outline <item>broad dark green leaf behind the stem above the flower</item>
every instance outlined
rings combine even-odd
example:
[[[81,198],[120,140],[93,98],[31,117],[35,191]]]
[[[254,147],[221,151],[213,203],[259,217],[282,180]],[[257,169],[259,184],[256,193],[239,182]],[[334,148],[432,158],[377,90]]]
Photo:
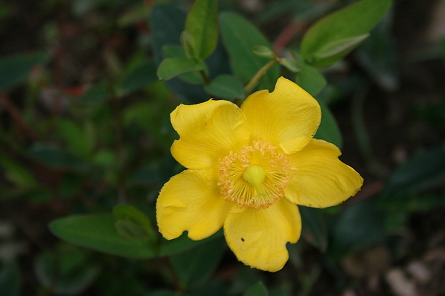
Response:
[[[252,47],[272,46],[253,24],[240,15],[220,13],[220,26],[232,70],[245,83],[267,63],[266,59],[253,53]],[[275,65],[263,76],[259,89],[272,90],[279,76],[280,65]]]

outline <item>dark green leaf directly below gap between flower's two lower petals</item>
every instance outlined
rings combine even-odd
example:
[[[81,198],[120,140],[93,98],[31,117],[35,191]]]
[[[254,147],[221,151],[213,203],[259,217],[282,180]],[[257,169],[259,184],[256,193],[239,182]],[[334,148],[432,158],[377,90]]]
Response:
[[[181,286],[193,288],[207,281],[218,267],[226,249],[223,237],[209,240],[170,258]],[[205,260],[202,260],[205,258]]]

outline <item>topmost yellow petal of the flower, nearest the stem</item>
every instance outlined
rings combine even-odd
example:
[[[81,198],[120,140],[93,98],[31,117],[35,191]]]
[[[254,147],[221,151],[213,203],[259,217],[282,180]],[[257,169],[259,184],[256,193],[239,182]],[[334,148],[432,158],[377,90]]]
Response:
[[[285,154],[299,151],[318,129],[321,108],[305,90],[280,77],[275,90],[254,92],[241,110],[248,118],[252,139],[262,138],[281,147]]]

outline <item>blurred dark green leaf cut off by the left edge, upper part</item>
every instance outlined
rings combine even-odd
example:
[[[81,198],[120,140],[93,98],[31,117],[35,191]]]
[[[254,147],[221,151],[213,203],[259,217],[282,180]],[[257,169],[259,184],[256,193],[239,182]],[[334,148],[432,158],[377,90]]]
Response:
[[[31,69],[46,59],[47,54],[42,51],[0,58],[0,90],[8,90],[26,81]]]

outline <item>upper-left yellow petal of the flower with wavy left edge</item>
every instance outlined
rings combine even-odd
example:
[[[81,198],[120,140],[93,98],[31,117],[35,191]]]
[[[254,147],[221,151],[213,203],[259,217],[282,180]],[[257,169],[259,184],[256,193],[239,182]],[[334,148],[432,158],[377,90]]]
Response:
[[[218,159],[248,143],[248,123],[235,104],[206,101],[179,105],[170,115],[179,140],[172,145],[172,156],[191,170],[219,167]]]

